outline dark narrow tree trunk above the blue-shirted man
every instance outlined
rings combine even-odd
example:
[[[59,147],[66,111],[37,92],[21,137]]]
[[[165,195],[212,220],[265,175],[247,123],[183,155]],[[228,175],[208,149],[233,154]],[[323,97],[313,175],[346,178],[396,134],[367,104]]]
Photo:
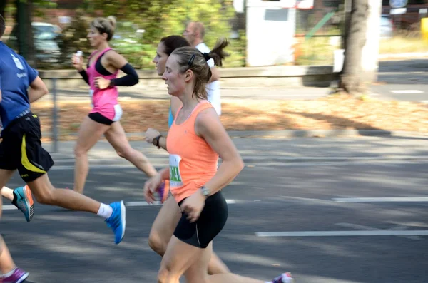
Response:
[[[31,26],[31,15],[33,14],[33,1],[16,0],[16,24],[18,24],[18,46],[19,54],[33,65],[36,63],[34,50],[33,29]]]

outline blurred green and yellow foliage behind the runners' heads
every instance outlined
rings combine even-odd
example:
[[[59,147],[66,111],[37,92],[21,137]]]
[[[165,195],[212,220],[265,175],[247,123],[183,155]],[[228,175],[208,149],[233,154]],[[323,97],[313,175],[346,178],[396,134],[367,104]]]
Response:
[[[116,16],[118,26],[111,46],[136,68],[153,68],[158,42],[163,36],[183,34],[188,21],[203,22],[205,43],[213,48],[217,38],[230,38],[231,20],[235,16],[232,0],[85,0],[81,9],[78,19],[73,19],[64,31],[66,42],[62,46],[67,49],[64,51],[90,51],[86,42],[88,21],[83,19]],[[230,40],[228,52],[232,56],[225,60],[225,66],[245,64],[244,42],[244,37]]]

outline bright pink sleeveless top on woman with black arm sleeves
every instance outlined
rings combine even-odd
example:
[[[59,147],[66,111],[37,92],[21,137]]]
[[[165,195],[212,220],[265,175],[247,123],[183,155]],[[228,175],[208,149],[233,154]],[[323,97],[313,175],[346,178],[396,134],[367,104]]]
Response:
[[[104,117],[110,120],[119,120],[122,115],[121,106],[118,104],[118,88],[116,86],[108,87],[105,89],[99,89],[95,86],[95,78],[103,77],[106,80],[111,80],[118,76],[118,71],[115,73],[104,76],[101,73],[96,71],[96,62],[98,58],[100,58],[104,53],[111,50],[111,48],[106,48],[101,51],[96,59],[93,61],[92,65],[89,65],[86,69],[86,73],[88,73],[88,81],[90,83],[91,90],[89,91],[89,95],[91,96],[93,109],[91,113],[100,113]],[[88,61],[91,61],[93,53],[89,56]]]

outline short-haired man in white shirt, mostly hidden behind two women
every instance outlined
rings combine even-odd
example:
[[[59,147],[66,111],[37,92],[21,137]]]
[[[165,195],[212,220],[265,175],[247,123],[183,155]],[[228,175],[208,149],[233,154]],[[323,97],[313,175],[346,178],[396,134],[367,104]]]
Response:
[[[189,41],[190,45],[197,48],[202,53],[209,53],[210,48],[203,42],[205,36],[205,28],[200,21],[191,21],[185,28],[183,36]],[[213,105],[217,114],[221,115],[221,99],[220,99],[220,72],[215,68],[214,60],[208,61],[208,66],[211,68],[210,83],[207,84],[208,101]]]

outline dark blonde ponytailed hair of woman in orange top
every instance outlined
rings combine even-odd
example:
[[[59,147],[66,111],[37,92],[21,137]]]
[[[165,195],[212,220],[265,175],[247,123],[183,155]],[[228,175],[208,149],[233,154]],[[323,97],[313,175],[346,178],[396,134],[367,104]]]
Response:
[[[220,38],[210,53],[201,53],[193,47],[180,47],[173,51],[171,55],[178,56],[177,63],[180,66],[180,73],[185,73],[188,70],[193,71],[195,86],[193,86],[192,96],[207,99],[206,85],[212,75],[207,61],[213,59],[216,66],[222,66],[223,59],[230,55],[223,51],[223,48],[228,46],[228,44],[225,38]]]

